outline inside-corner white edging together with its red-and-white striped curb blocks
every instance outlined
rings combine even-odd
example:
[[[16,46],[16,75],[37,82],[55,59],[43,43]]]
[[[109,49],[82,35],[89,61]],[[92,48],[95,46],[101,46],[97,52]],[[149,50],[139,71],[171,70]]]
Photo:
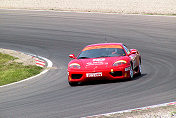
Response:
[[[20,53],[25,53],[25,52],[20,52]],[[21,80],[21,81],[18,81],[18,82],[14,82],[14,83],[10,83],[10,84],[6,84],[6,85],[3,85],[3,86],[0,86],[0,88],[3,88],[3,87],[7,87],[7,86],[11,86],[11,85],[15,85],[15,84],[18,84],[18,83],[22,83],[22,82],[25,82],[25,81],[28,81],[28,80],[31,80],[33,78],[36,78],[36,77],[39,77],[43,74],[45,74],[46,72],[48,72],[50,70],[50,68],[53,66],[53,63],[52,61],[50,61],[49,59],[45,58],[45,57],[41,57],[41,56],[37,56],[37,55],[33,55],[33,54],[30,54],[30,53],[25,53],[27,55],[31,55],[33,58],[36,59],[36,65],[40,65],[42,67],[46,67],[45,70],[43,70],[41,73],[39,73],[38,75],[35,75],[35,76],[32,76],[32,77],[29,77],[27,79],[24,79],[24,80]],[[45,63],[44,63],[45,62]],[[40,64],[38,64],[40,63]]]

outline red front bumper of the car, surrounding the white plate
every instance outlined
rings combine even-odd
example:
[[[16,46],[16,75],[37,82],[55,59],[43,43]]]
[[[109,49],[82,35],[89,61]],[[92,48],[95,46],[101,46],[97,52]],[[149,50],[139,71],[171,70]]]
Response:
[[[101,77],[87,77],[87,73],[102,73]],[[84,70],[68,70],[69,82],[85,82],[92,80],[117,80],[127,79],[130,77],[130,67],[113,67],[108,69],[100,69],[96,71]]]

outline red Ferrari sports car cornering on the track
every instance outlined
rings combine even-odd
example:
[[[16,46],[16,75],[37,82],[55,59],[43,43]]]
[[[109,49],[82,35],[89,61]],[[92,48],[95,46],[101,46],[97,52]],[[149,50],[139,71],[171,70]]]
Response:
[[[141,75],[141,56],[136,49],[122,43],[101,43],[86,46],[68,64],[70,86],[90,80],[133,79]]]

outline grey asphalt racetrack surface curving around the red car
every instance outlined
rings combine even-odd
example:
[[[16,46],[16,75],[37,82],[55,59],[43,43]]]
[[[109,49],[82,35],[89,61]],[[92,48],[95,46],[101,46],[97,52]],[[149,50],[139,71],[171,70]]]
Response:
[[[132,81],[67,83],[70,53],[122,42],[142,54]],[[54,68],[0,88],[0,118],[77,118],[176,100],[176,17],[0,10],[0,47],[50,59]]]

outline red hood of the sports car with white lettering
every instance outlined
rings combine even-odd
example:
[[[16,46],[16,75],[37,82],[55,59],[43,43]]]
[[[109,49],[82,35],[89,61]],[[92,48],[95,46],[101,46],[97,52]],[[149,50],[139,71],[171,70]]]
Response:
[[[111,68],[114,62],[119,60],[127,60],[126,56],[121,57],[105,57],[105,58],[90,58],[76,59],[72,63],[79,63],[84,70],[104,70]]]

